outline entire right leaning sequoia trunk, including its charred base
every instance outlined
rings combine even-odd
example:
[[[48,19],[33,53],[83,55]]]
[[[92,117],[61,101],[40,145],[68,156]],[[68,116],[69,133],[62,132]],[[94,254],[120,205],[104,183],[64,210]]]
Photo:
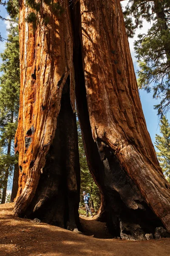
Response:
[[[89,166],[105,195],[110,223],[115,230],[119,226],[122,238],[128,222],[134,239],[135,229],[153,231],[151,219],[152,227],[161,225],[160,219],[170,231],[170,185],[147,131],[120,3],[80,0],[80,12],[88,114],[103,171],[96,176]],[[83,133],[87,149],[90,131]]]

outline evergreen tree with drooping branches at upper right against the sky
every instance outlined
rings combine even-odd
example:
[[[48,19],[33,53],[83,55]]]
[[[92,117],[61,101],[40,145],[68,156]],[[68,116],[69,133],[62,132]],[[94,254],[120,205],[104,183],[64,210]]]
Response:
[[[138,85],[147,92],[153,86],[153,97],[161,99],[155,108],[162,117],[170,109],[170,1],[130,0],[124,15],[131,37],[134,29],[142,28],[144,20],[152,25],[135,42],[140,68]]]

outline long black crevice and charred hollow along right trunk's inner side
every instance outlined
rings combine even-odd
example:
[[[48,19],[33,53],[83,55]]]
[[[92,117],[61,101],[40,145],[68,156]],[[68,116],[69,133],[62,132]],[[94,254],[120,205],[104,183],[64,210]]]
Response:
[[[120,165],[113,149],[99,139],[96,143],[93,140],[83,72],[79,2],[71,9],[71,18],[74,34],[77,112],[89,170],[102,194],[103,208],[100,221],[107,222],[113,236],[144,240],[146,233],[154,233],[156,227],[163,225]]]

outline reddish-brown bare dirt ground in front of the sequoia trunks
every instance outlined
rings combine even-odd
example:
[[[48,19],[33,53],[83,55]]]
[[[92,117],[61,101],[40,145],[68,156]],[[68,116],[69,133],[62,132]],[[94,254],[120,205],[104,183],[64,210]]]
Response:
[[[16,218],[13,207],[13,203],[0,205],[0,256],[170,256],[170,239],[112,239],[105,223],[81,216],[85,236]]]

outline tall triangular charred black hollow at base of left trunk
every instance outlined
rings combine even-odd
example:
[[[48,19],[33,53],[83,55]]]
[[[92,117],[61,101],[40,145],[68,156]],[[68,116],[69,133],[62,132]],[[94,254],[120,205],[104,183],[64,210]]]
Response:
[[[80,228],[80,169],[76,115],[71,108],[69,84],[68,77],[62,90],[55,137],[25,215],[73,230]]]

